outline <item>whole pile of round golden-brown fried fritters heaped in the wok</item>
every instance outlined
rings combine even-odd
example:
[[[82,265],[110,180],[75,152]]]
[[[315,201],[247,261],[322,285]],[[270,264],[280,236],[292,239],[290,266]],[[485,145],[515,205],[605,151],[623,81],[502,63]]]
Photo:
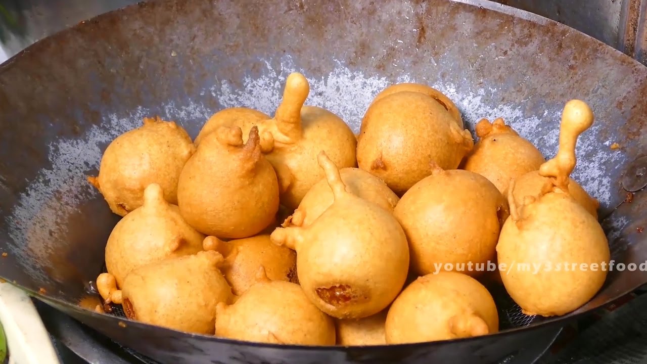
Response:
[[[474,142],[427,85],[382,90],[358,135],[306,106],[309,91],[292,73],[274,117],[226,108],[195,140],[144,119],[107,146],[89,182],[122,219],[97,310],[242,341],[384,345],[498,332],[490,285],[543,316],[600,290],[605,269],[542,269],[609,260],[598,201],[569,177],[586,103],[565,104],[547,161],[503,119],[478,122]]]

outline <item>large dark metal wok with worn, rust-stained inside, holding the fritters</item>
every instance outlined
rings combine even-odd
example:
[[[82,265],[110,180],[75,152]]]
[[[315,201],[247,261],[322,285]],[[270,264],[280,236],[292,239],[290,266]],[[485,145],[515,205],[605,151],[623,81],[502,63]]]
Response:
[[[564,103],[596,122],[573,177],[600,199],[616,263],[585,307],[524,317],[496,294],[502,331],[389,347],[282,347],[188,335],[98,314],[87,302],[116,216],[86,181],[142,117],[195,137],[218,109],[273,113],[291,71],[308,104],[358,130],[391,82],[444,91],[468,124],[504,117],[552,157]],[[168,0],[85,21],[0,66],[0,277],[162,363],[493,363],[647,282],[647,68],[580,32],[481,0]],[[470,125],[470,128],[471,128]],[[612,143],[619,149],[611,149]],[[628,198],[629,192],[635,192]],[[626,268],[626,266],[625,266]],[[433,317],[429,318],[433,320]]]

